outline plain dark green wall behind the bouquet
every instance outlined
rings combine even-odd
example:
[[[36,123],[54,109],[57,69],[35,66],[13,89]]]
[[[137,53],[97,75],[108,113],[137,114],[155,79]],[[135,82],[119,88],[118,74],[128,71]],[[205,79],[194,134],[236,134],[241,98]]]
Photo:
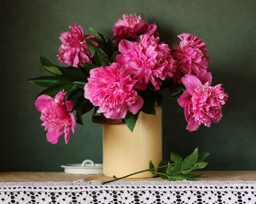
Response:
[[[65,145],[48,143],[34,100],[41,87],[27,79],[47,75],[40,55],[58,64],[62,31],[77,22],[111,37],[123,13],[156,22],[160,40],[172,46],[180,33],[207,44],[214,75],[229,95],[223,118],[211,128],[185,129],[174,98],[164,95],[163,156],[186,156],[195,147],[210,152],[207,170],[256,170],[256,1],[255,0],[4,0],[1,3],[0,171],[63,171],[67,163],[102,162],[101,125],[84,116],[84,126]]]

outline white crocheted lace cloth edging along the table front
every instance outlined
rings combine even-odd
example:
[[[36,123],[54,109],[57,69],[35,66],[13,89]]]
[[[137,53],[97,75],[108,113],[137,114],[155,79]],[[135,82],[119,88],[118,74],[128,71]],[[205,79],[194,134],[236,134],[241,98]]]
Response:
[[[256,204],[256,181],[2,182],[1,204]]]

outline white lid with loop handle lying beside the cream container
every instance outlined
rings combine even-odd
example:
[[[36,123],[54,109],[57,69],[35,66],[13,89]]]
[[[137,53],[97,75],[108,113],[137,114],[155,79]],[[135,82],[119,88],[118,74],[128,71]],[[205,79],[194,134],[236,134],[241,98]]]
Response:
[[[68,174],[99,174],[103,173],[103,164],[94,164],[90,159],[84,160],[82,164],[61,165],[64,172]]]

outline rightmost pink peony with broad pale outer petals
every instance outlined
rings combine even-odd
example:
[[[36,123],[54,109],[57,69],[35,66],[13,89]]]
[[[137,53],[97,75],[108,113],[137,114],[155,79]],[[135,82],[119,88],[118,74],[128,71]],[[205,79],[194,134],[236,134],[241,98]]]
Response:
[[[197,130],[201,124],[210,127],[222,117],[221,108],[228,95],[220,87],[222,84],[211,86],[211,79],[211,72],[206,70],[200,70],[197,76],[186,74],[181,79],[186,91],[177,102],[185,109],[189,131]]]

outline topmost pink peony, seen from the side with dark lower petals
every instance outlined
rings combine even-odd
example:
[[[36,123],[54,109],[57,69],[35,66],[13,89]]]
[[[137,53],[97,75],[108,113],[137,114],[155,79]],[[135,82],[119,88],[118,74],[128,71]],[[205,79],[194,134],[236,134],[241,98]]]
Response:
[[[142,20],[140,15],[123,15],[123,19],[119,18],[115,23],[115,26],[112,28],[114,31],[114,36],[112,39],[117,40],[118,42],[122,39],[128,39],[132,37],[137,39],[139,35],[155,35],[158,33],[156,31],[157,25],[148,24],[146,21]]]

